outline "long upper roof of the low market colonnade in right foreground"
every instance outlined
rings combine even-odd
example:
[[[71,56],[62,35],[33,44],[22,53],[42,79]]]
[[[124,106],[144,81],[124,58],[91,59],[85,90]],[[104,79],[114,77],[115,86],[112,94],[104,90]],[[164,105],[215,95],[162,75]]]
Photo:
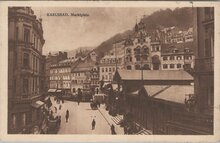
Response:
[[[118,70],[114,79],[117,80],[141,80],[141,70]],[[181,70],[144,70],[144,80],[192,80],[193,77]]]

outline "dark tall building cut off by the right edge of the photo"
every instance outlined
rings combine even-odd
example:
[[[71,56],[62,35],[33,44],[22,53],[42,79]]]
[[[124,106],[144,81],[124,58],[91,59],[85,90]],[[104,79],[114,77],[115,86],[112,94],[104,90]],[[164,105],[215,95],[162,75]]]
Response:
[[[195,11],[195,95],[198,109],[213,115],[214,108],[214,8]],[[213,116],[212,116],[213,118]]]

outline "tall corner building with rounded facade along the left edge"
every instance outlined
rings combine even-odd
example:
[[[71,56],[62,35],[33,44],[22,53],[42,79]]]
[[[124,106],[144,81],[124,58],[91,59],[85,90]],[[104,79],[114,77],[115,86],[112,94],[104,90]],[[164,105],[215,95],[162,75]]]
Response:
[[[45,93],[42,19],[30,7],[8,9],[8,133],[40,125]]]

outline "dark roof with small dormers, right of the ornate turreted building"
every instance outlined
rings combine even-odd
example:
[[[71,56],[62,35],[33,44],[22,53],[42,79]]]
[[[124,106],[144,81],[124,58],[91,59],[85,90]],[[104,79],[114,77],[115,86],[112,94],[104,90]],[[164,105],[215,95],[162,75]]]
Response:
[[[194,43],[186,42],[186,43],[162,44],[161,55],[184,54],[186,53],[185,49],[190,50],[188,54],[193,54]],[[173,50],[178,50],[178,52],[174,53]]]

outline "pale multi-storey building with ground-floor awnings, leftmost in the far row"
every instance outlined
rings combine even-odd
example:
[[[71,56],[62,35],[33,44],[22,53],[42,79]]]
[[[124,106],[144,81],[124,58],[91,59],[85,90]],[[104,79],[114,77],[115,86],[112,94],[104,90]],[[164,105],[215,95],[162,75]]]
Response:
[[[71,66],[74,62],[75,59],[69,58],[50,66],[50,89],[48,91],[55,92],[54,89],[56,89],[63,91],[64,94],[70,93]]]

